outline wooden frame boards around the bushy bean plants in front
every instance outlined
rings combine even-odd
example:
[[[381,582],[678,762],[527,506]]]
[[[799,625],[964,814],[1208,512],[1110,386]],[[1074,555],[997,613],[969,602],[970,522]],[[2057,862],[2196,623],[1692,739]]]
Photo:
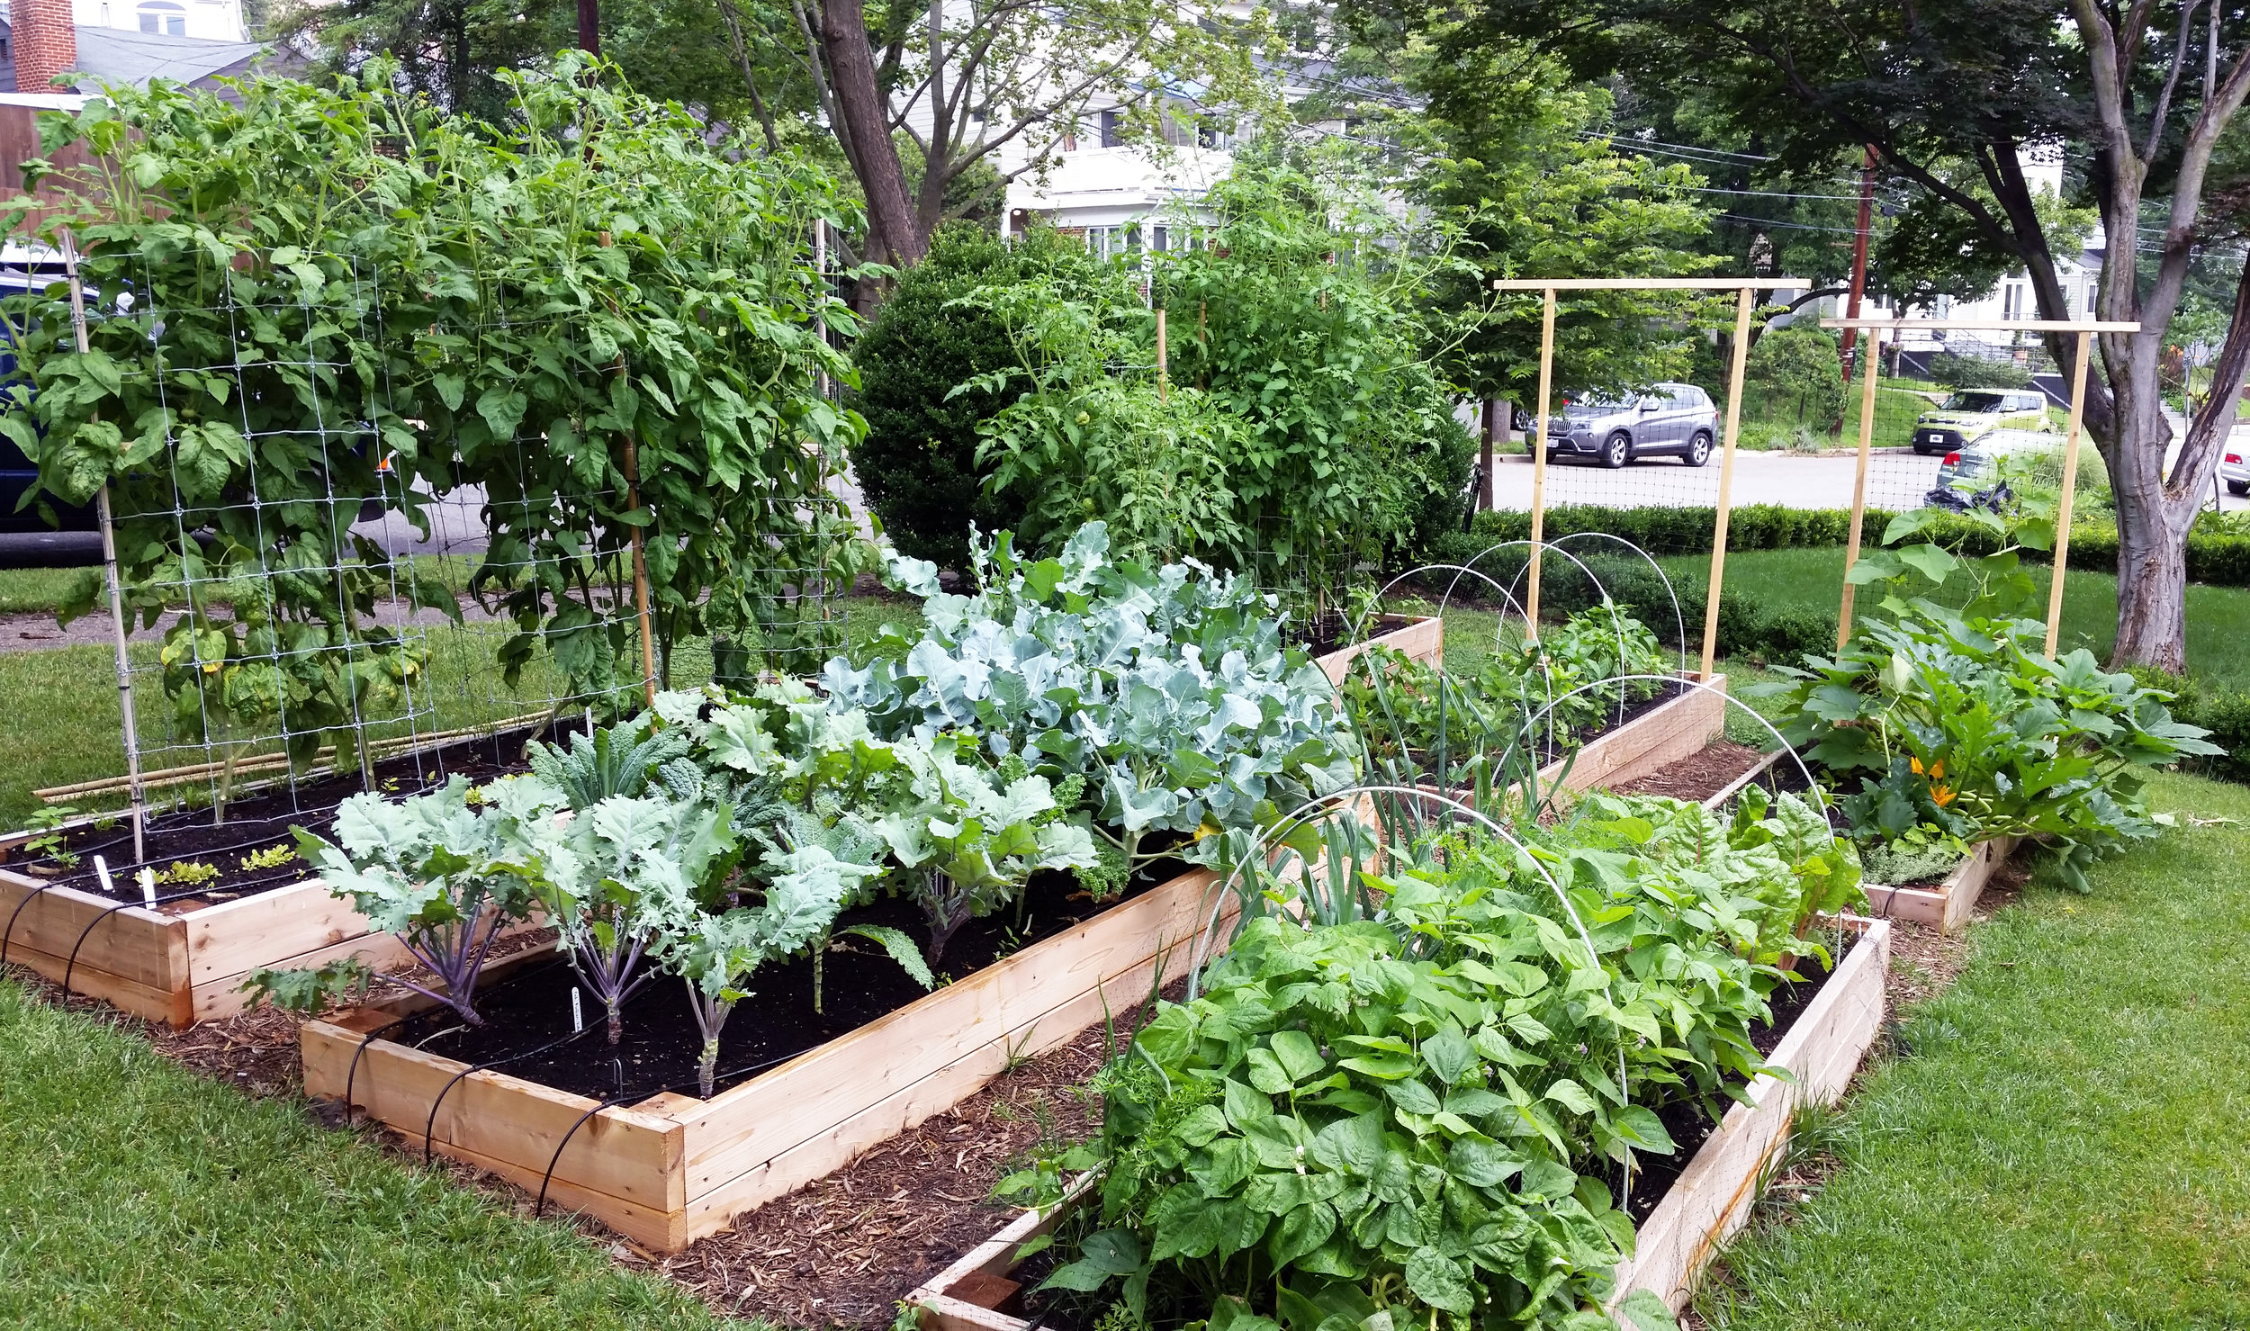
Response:
[[[1883,1027],[1883,976],[1890,971],[1890,922],[1845,917],[1861,933],[1829,983],[1782,1036],[1768,1063],[1793,1081],[1766,1075],[1750,1084],[1748,1104],[1735,1104],[1703,1140],[1688,1169],[1656,1212],[1638,1228],[1634,1257],[1618,1264],[1618,1300],[1649,1291],[1678,1313],[1712,1255],[1750,1219],[1768,1165],[1789,1142],[1796,1108],[1834,1104],[1852,1084],[1861,1059]],[[1022,1246],[1046,1234],[1087,1194],[1080,1178],[1060,1205],[1024,1212],[990,1241],[907,1295],[922,1331],[1030,1331],[1022,1318],[994,1311],[1019,1286],[1010,1277]]]

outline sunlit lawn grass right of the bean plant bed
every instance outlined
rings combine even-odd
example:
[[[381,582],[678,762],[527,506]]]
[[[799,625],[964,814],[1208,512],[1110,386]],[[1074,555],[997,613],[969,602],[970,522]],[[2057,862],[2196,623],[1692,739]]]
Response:
[[[2250,823],[2243,787],[2153,796]],[[1845,1167],[1728,1252],[1712,1327],[2250,1327],[2246,863],[2243,825],[2182,827],[1976,926],[1845,1106]]]

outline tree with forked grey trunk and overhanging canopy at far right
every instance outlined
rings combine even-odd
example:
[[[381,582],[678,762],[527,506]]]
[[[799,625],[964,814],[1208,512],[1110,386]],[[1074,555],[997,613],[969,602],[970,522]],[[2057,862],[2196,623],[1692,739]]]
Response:
[[[1388,0],[1386,0],[1388,2]],[[1487,40],[1532,40],[1582,76],[1699,85],[1773,155],[1814,166],[1872,146],[1919,198],[1897,223],[1955,254],[2020,268],[2041,317],[2079,315],[2023,169],[2034,148],[2084,162],[2077,187],[2106,243],[2097,313],[2138,322],[2099,337],[2086,423],[2117,492],[2115,663],[2187,663],[2187,528],[2212,483],[2250,366],[2250,270],[2216,355],[2216,391],[2167,468],[2160,362],[2198,250],[2232,236],[2243,175],[2221,155],[2250,92],[2250,11],[2203,0],[1483,0]],[[2221,202],[2218,209],[2207,207]],[[2072,366],[2077,339],[2050,335]]]

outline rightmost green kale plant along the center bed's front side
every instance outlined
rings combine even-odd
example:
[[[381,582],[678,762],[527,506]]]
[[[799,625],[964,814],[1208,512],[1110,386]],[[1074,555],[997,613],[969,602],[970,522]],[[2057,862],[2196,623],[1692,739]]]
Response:
[[[1078,803],[1080,778],[1058,791],[1022,758],[1001,760],[999,771],[961,762],[952,735],[904,753],[911,803],[886,812],[875,830],[914,875],[932,965],[963,924],[997,911],[1033,872],[1096,868],[1094,836],[1064,816]]]

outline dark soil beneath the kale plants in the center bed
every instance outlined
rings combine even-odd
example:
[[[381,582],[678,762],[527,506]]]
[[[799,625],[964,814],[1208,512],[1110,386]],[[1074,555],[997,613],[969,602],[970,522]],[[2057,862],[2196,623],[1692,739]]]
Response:
[[[1118,899],[1170,881],[1184,868],[1177,861],[1159,861]],[[972,920],[947,940],[945,956],[932,969],[940,983],[958,980],[1100,915],[1118,899],[1094,902],[1071,875],[1035,875],[1022,899],[1022,924],[1012,908]],[[927,944],[929,938],[920,911],[911,902],[891,897],[846,911],[837,920],[837,933],[853,924],[884,924],[918,944]],[[749,1081],[760,1070],[898,1012],[925,994],[880,944],[864,938],[837,938],[824,971],[824,1012],[812,1012],[810,958],[794,958],[752,976],[752,996],[736,1005],[720,1034],[718,1090]],[[526,965],[479,989],[482,1027],[464,1025],[450,1007],[432,1007],[385,1039],[596,1099],[641,1099],[659,1090],[695,1095],[702,1032],[682,980],[659,976],[634,994],[626,1005],[623,1039],[614,1048],[605,1039],[601,1003],[592,994],[580,994],[578,1016],[585,1025],[574,1030],[569,998],[574,987],[576,976],[558,956],[554,965]]]

